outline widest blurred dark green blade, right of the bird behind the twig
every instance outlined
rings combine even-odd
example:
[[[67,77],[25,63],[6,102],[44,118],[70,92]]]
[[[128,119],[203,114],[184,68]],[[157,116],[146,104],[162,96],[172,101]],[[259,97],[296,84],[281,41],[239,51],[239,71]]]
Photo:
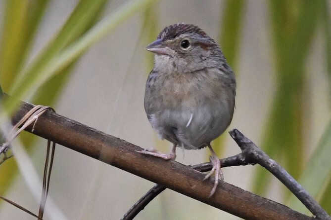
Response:
[[[285,169],[297,178],[302,171],[302,109],[305,60],[314,36],[318,1],[270,1],[273,39],[276,51],[278,88],[266,125],[263,149],[272,157],[282,157]],[[297,8],[293,8],[293,4]],[[290,5],[290,6],[289,6]],[[297,17],[293,15],[297,14]],[[295,161],[295,163],[293,163]],[[254,192],[264,194],[270,174],[259,168],[255,175]]]

